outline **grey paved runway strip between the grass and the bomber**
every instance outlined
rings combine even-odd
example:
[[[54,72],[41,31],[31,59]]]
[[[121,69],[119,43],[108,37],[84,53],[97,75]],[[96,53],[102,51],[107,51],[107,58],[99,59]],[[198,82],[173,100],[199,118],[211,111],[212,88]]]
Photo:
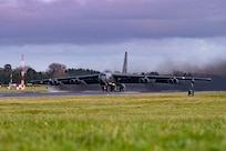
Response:
[[[83,91],[83,92],[14,92],[0,93],[0,98],[54,98],[54,97],[76,97],[76,95],[123,95],[140,94],[142,92],[102,92],[102,91]]]

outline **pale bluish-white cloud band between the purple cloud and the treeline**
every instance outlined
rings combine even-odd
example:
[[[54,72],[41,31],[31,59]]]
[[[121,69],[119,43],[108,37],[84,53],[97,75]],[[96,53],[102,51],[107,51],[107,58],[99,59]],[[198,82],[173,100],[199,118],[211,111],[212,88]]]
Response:
[[[202,72],[218,73],[220,70],[210,69],[224,64],[222,62],[226,60],[225,40],[226,38],[167,38],[85,46],[71,43],[0,46],[2,51],[0,64],[3,67],[11,63],[12,67],[19,67],[23,53],[25,64],[37,71],[44,71],[53,62],[63,63],[68,68],[121,71],[123,56],[127,51],[131,73],[151,71],[172,73],[175,70],[201,72],[201,69]]]

